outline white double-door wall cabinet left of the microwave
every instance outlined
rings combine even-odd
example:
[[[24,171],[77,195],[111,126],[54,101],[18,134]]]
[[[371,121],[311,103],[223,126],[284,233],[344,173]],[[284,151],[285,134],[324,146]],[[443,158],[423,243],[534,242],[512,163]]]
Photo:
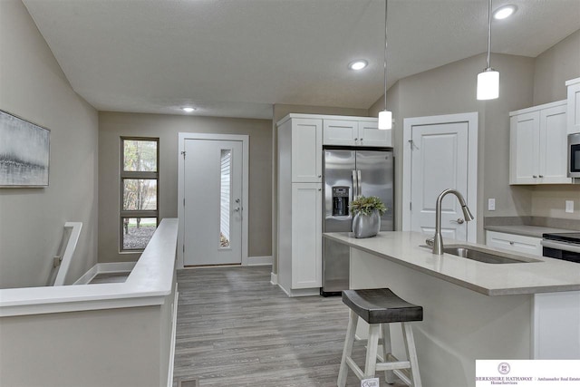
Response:
[[[567,184],[566,101],[510,115],[509,184]]]

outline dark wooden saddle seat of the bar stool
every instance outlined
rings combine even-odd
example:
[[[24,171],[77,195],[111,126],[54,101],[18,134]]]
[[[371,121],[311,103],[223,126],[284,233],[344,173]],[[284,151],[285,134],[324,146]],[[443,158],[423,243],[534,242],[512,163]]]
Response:
[[[368,324],[422,321],[422,306],[412,305],[391,289],[343,290],[343,303]]]

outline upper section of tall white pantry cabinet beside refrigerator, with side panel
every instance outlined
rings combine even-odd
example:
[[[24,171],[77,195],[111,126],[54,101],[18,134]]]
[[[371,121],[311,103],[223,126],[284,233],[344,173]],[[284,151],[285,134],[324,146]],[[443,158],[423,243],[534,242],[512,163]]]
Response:
[[[292,176],[292,182],[322,182],[322,120],[288,116],[278,122],[278,144],[285,144],[278,147],[279,168]]]

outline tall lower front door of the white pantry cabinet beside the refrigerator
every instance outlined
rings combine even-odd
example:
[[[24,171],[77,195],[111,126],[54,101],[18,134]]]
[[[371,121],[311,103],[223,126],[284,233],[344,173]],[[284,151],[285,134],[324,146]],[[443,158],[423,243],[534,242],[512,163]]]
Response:
[[[322,286],[322,184],[292,185],[292,288]]]

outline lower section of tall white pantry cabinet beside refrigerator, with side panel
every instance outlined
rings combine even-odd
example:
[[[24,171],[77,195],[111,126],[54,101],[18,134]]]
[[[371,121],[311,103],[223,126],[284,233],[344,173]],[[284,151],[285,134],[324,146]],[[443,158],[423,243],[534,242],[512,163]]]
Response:
[[[292,183],[282,197],[285,200],[279,203],[278,285],[287,295],[317,295],[323,266],[322,183]]]

